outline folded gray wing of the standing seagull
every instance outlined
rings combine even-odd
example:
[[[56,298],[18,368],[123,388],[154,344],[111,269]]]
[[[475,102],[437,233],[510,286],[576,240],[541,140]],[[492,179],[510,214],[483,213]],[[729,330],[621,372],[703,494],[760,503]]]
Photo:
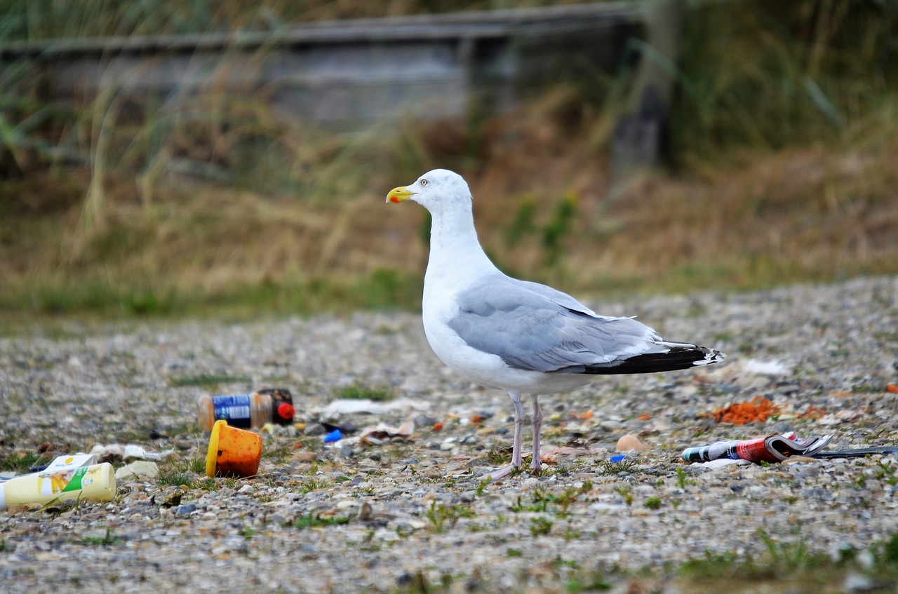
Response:
[[[481,279],[456,301],[460,311],[449,327],[467,345],[518,369],[582,373],[666,350],[635,319],[597,316],[565,293],[505,275]]]

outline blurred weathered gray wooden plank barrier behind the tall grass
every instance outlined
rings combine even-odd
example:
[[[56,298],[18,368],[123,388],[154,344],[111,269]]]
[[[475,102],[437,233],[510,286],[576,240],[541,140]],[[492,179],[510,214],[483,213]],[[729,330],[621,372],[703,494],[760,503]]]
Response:
[[[177,102],[214,87],[338,127],[412,115],[497,113],[531,92],[621,66],[642,3],[315,22],[279,31],[10,44],[31,96],[85,105],[102,92]],[[588,85],[586,85],[588,86]]]

